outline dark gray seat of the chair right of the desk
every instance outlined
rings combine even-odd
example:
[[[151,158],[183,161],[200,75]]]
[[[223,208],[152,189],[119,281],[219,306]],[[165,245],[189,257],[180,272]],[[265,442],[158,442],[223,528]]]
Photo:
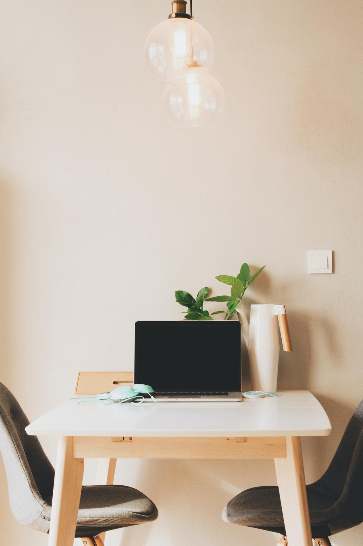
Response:
[[[320,495],[314,491],[307,491],[307,501],[312,528],[314,526],[321,527],[338,517],[334,498]],[[222,518],[227,523],[258,527],[269,531],[275,530],[285,535],[277,486],[246,489],[228,502],[223,509]]]

